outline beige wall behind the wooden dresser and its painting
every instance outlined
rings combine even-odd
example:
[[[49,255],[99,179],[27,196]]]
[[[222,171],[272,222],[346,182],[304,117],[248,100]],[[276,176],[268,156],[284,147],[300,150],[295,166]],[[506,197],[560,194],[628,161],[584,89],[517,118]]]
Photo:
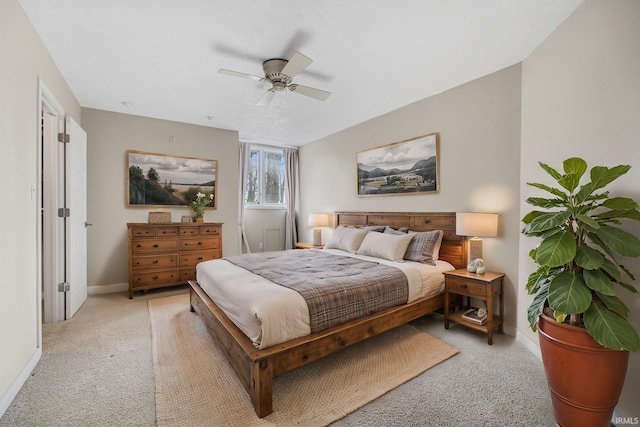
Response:
[[[224,223],[224,256],[238,253],[238,132],[89,108],[82,109],[82,120],[88,139],[87,221],[93,224],[87,236],[91,292],[128,283],[127,222],[147,222],[150,211],[170,211],[176,222],[189,215],[186,208],[127,206],[127,150],[217,160],[217,209],[207,210],[205,221]]]

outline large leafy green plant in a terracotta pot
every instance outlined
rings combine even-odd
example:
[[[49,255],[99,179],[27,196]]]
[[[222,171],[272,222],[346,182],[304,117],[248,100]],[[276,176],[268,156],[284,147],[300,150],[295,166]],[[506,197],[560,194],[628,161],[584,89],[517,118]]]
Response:
[[[640,350],[638,333],[627,321],[629,308],[618,297],[618,286],[637,293],[620,256],[640,256],[640,239],[617,226],[640,221],[640,210],[634,200],[602,189],[630,166],[595,166],[581,185],[584,160],[565,160],[563,173],[539,164],[558,186],[528,183],[552,196],[528,198],[542,210],[522,219],[522,233],[541,240],[530,252],[538,268],[526,285],[534,295],[529,323],[539,330],[558,424],[609,426],[629,352]]]

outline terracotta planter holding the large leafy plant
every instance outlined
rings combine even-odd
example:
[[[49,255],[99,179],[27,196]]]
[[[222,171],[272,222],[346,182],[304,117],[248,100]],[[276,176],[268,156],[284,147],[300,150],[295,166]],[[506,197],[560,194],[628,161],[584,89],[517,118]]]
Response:
[[[629,362],[628,351],[602,347],[583,328],[538,320],[540,351],[556,422],[609,427]]]

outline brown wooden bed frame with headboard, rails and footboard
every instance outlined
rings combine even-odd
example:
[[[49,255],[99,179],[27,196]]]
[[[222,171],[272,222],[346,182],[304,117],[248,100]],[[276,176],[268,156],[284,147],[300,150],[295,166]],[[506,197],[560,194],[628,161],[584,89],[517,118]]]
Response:
[[[463,238],[455,234],[455,222],[456,215],[453,212],[337,212],[337,225],[388,225],[393,228],[409,227],[415,231],[443,230],[440,259],[462,268],[466,265],[466,246]],[[273,380],[276,376],[444,307],[444,293],[441,293],[258,350],[198,283],[190,281],[189,284],[191,311],[200,315],[220,345],[249,393],[260,418],[273,412]]]

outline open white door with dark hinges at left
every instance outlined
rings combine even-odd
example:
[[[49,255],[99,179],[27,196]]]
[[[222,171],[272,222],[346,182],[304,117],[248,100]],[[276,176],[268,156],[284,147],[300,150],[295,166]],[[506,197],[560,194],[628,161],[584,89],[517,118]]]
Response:
[[[65,120],[66,292],[65,318],[87,299],[87,134],[72,118]]]

